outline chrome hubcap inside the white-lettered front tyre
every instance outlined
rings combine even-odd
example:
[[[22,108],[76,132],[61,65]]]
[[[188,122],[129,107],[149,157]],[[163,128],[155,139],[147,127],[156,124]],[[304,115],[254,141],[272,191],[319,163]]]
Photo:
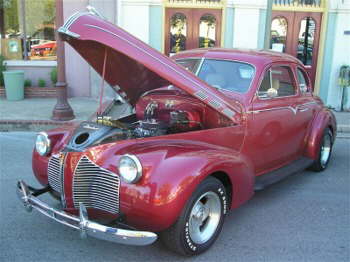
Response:
[[[214,235],[221,208],[220,198],[214,192],[206,192],[197,200],[189,219],[189,234],[194,243],[203,244]]]

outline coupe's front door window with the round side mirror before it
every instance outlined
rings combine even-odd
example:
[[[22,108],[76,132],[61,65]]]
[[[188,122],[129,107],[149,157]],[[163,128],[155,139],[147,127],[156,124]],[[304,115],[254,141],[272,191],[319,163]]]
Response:
[[[266,71],[259,87],[258,96],[273,98],[296,94],[294,76],[289,66],[272,66]]]

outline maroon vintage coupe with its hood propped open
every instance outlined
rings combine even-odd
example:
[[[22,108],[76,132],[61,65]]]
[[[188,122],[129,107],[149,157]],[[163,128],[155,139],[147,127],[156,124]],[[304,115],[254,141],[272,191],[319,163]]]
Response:
[[[118,119],[112,104],[94,121],[39,133],[33,171],[43,188],[17,185],[28,211],[82,236],[130,245],[159,236],[195,255],[255,190],[327,167],[336,121],[296,58],[197,49],[170,59],[93,11],[59,33],[134,113]],[[61,210],[38,198],[46,192]]]

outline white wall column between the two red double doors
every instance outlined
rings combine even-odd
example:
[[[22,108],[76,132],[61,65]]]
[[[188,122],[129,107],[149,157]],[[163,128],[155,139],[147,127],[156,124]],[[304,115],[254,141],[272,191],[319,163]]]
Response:
[[[258,48],[260,31],[265,31],[260,15],[261,10],[266,9],[267,0],[236,0],[233,3],[233,47]]]

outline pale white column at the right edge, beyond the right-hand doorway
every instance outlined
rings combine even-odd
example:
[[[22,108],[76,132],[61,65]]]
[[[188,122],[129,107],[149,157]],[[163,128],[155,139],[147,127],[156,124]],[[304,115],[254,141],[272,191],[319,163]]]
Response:
[[[350,30],[350,0],[335,0],[332,2],[331,8],[329,12],[336,13],[336,25],[333,59],[332,61],[324,61],[324,66],[331,68],[327,104],[340,110],[343,92],[338,85],[339,69],[342,65],[350,65],[350,35],[345,33]],[[350,88],[346,88],[345,91],[350,97]],[[345,109],[350,110],[349,101],[345,105]]]

